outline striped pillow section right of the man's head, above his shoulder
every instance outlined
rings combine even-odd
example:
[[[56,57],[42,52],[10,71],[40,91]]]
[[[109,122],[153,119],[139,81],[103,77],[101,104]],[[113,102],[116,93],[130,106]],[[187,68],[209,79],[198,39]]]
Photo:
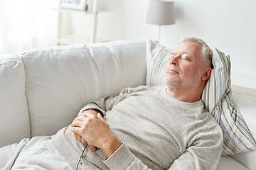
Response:
[[[223,154],[256,150],[256,142],[247,128],[231,94],[230,57],[215,48],[213,72],[203,89],[202,101],[223,130]]]

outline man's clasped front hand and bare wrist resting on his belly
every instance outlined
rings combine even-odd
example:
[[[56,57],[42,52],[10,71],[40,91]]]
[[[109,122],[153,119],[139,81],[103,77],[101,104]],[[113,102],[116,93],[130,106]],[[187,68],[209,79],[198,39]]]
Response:
[[[100,113],[81,113],[73,120],[71,127],[71,132],[78,135],[78,140],[102,149],[106,157],[110,157],[122,145]]]

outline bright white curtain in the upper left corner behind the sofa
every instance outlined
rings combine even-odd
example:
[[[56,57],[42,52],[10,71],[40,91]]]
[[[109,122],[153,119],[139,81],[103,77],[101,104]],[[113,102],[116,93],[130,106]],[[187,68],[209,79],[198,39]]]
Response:
[[[0,54],[55,45],[58,0],[0,0]]]

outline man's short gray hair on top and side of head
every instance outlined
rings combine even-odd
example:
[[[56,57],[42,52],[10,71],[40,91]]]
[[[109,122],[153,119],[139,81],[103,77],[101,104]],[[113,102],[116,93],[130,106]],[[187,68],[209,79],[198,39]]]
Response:
[[[213,57],[213,50],[210,49],[210,47],[206,44],[206,42],[204,42],[203,40],[199,39],[199,38],[182,38],[179,42],[179,44],[181,44],[182,42],[186,42],[186,41],[190,41],[190,42],[195,42],[199,45],[202,46],[202,50],[201,50],[201,57],[203,60],[203,64],[206,65],[206,67],[211,67],[213,68],[213,64],[212,64],[212,57]]]

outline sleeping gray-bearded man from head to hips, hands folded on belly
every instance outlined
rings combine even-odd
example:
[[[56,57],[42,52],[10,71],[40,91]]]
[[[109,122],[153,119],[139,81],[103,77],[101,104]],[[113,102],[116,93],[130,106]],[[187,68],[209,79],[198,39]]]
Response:
[[[211,56],[203,40],[185,38],[169,56],[167,86],[127,88],[89,103],[70,126],[41,142],[54,143],[55,167],[216,169],[223,134],[200,100]]]

